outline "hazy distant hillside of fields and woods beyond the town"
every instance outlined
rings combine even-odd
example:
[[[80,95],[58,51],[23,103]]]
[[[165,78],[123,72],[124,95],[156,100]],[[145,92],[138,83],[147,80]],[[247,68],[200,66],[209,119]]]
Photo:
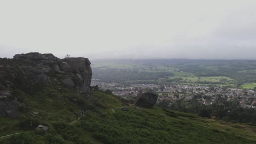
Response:
[[[108,73],[109,76],[114,71],[125,69],[129,70],[128,73],[145,73],[165,79],[155,79],[155,77],[148,79],[148,81],[154,80],[156,83],[199,83],[236,87],[238,83],[256,82],[256,61],[247,60],[104,59],[93,61],[91,67],[92,71],[96,69],[99,74]],[[174,75],[165,76],[164,74],[167,73]],[[120,77],[120,81],[131,82],[125,75]],[[118,81],[119,77],[115,76],[115,78],[115,81]],[[95,77],[95,79],[101,80],[100,77]],[[135,81],[136,79],[132,80]],[[145,81],[144,83],[148,82]],[[242,87],[252,88],[254,85],[242,85]]]

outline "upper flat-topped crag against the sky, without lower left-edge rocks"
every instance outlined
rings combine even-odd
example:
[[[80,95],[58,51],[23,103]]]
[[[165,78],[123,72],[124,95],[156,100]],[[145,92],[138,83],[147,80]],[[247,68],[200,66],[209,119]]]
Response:
[[[0,88],[21,86],[33,90],[36,85],[49,86],[54,74],[63,77],[60,81],[64,86],[87,92],[92,77],[90,64],[88,58],[60,59],[38,52],[17,54],[13,59],[0,58]]]

